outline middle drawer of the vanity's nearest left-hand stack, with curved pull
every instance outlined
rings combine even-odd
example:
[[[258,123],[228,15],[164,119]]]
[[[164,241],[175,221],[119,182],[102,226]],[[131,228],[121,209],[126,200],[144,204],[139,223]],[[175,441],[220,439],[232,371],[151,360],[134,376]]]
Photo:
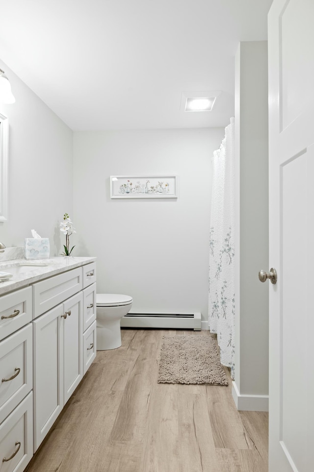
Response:
[[[33,388],[31,324],[0,342],[0,379],[1,423]]]

